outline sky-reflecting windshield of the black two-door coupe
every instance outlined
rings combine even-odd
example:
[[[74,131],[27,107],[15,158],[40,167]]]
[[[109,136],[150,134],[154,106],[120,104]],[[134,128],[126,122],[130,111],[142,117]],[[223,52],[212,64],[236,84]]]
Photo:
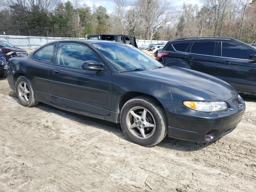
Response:
[[[160,62],[133,46],[119,43],[97,43],[93,46],[116,70],[121,72],[164,67]]]

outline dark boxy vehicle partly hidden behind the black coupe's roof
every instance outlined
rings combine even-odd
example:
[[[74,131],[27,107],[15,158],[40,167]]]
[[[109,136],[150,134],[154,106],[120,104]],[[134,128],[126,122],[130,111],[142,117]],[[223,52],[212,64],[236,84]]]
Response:
[[[136,38],[129,35],[122,35],[122,34],[94,34],[89,35],[88,39],[90,40],[105,40],[105,41],[114,41],[120,42],[125,44],[130,44],[136,48],[138,48],[136,43]]]

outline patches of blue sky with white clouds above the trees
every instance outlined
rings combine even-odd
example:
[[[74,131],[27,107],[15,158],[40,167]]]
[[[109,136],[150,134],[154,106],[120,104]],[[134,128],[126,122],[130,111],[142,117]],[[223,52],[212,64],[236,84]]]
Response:
[[[126,6],[133,6],[136,0],[126,0]],[[171,10],[178,10],[185,3],[187,4],[200,4],[201,0],[166,0]],[[114,10],[114,0],[80,0],[81,4],[87,4],[92,7],[104,6],[108,9],[108,13]]]

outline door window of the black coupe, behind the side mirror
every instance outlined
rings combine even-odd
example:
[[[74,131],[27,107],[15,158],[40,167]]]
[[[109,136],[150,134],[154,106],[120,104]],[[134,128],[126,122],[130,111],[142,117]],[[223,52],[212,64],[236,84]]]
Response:
[[[98,55],[86,45],[66,42],[59,44],[56,64],[82,68],[83,63],[89,60],[102,63]]]

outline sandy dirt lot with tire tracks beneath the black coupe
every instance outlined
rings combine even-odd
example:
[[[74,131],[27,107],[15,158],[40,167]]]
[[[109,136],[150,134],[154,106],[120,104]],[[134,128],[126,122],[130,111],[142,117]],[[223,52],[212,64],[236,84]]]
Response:
[[[120,125],[46,104],[19,104],[0,78],[0,192],[256,190],[256,97],[220,140],[172,138],[152,148],[129,142]]]

